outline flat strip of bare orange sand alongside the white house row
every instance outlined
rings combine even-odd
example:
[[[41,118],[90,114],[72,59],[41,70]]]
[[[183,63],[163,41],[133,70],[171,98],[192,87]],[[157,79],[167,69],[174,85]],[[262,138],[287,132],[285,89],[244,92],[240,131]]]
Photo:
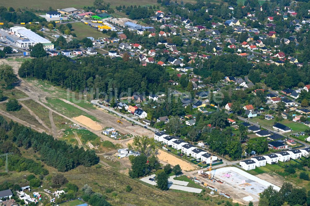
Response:
[[[158,150],[157,157],[159,160],[167,162],[172,166],[180,165],[181,169],[185,170],[185,171],[191,171],[191,170],[197,169],[196,167],[194,167],[190,163],[188,163],[184,160],[181,160],[181,159],[179,159],[179,158],[177,158],[177,157],[175,157],[175,156],[173,156],[167,152],[164,152],[162,150]]]

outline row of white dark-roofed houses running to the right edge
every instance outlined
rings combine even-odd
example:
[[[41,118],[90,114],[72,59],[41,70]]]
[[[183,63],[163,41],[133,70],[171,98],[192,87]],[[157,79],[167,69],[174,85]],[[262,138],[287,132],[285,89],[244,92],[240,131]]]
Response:
[[[291,149],[273,154],[252,157],[251,159],[239,161],[239,165],[244,170],[254,170],[256,167],[265,166],[268,164],[276,164],[278,161],[286,162],[290,159],[298,159],[301,156],[308,156],[310,148]]]

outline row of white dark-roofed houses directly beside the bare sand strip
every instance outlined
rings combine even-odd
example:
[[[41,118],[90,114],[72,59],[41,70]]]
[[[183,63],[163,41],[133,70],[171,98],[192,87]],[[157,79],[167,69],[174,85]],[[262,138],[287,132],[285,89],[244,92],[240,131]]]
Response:
[[[217,161],[217,157],[213,156],[211,153],[208,153],[203,149],[197,148],[196,146],[189,144],[182,139],[170,136],[165,132],[156,132],[154,134],[154,139],[155,141],[163,142],[164,144],[171,146],[176,150],[181,150],[182,153],[186,155],[191,155],[197,160],[200,159],[202,162],[206,162],[206,164],[210,164],[210,161]]]

